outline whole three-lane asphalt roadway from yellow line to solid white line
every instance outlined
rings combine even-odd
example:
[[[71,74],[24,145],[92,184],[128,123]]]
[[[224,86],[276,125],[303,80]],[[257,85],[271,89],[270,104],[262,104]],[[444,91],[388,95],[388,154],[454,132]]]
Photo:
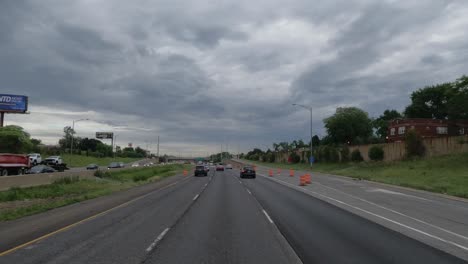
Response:
[[[187,177],[0,263],[465,263],[270,179]]]

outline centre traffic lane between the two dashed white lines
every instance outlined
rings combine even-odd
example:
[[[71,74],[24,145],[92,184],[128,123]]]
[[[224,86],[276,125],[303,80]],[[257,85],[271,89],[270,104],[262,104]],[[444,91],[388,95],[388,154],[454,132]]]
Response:
[[[300,263],[231,170],[215,177],[145,263]]]

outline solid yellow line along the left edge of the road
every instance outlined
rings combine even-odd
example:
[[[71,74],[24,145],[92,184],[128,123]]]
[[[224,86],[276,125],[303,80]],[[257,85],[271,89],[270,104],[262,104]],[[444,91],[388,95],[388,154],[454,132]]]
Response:
[[[185,181],[185,180],[187,180],[187,179],[189,179],[189,178],[186,178],[186,179],[183,179],[183,180],[179,180],[179,181],[176,181],[176,182],[171,183],[171,184],[169,184],[169,185],[166,185],[166,186],[164,186],[163,188],[156,190],[156,192],[165,190],[165,189],[167,189],[167,188],[169,188],[169,187],[171,187],[171,186],[174,186],[174,185],[176,185],[176,184],[178,184],[178,183],[180,183],[180,182],[183,182],[183,181]],[[154,191],[153,191],[153,192],[154,192]],[[102,215],[104,215],[104,214],[107,214],[107,213],[109,213],[110,211],[113,211],[113,210],[118,209],[118,208],[120,208],[120,207],[124,207],[124,206],[126,206],[126,205],[128,205],[128,204],[130,204],[130,203],[136,202],[136,201],[138,201],[138,200],[140,200],[140,199],[142,199],[142,198],[144,198],[144,197],[146,197],[146,196],[152,194],[153,192],[149,192],[149,193],[147,193],[147,194],[144,194],[144,195],[142,195],[142,196],[139,196],[139,197],[137,197],[137,198],[134,198],[134,199],[132,199],[132,200],[130,200],[130,201],[127,201],[127,202],[125,202],[125,203],[123,203],[123,204],[119,204],[119,205],[117,205],[117,206],[115,206],[115,207],[112,207],[112,208],[110,208],[110,209],[107,209],[107,210],[105,210],[105,211],[103,211],[103,212],[100,212],[100,213],[95,214],[95,215],[92,215],[92,216],[90,216],[90,217],[88,217],[88,218],[82,219],[82,220],[80,220],[80,221],[78,221],[78,222],[76,222],[76,223],[67,225],[67,226],[62,227],[62,228],[60,228],[60,229],[58,229],[58,230],[55,230],[55,231],[53,231],[53,232],[51,232],[51,233],[48,233],[48,234],[45,234],[45,235],[43,235],[43,236],[41,236],[41,237],[38,237],[38,238],[36,238],[36,239],[33,239],[33,240],[29,241],[29,242],[26,242],[26,243],[24,243],[24,244],[21,244],[21,245],[19,245],[19,246],[14,247],[14,248],[11,248],[11,249],[8,249],[8,250],[6,250],[6,251],[3,251],[3,252],[0,253],[0,257],[3,257],[3,256],[5,256],[5,255],[7,255],[7,254],[10,254],[10,253],[14,252],[14,251],[17,251],[18,249],[22,249],[22,248],[24,248],[24,247],[27,247],[27,246],[29,246],[29,245],[31,245],[31,244],[34,244],[34,243],[36,243],[36,242],[38,242],[38,241],[41,241],[41,240],[46,239],[46,238],[48,238],[48,237],[51,237],[51,236],[53,236],[53,235],[55,235],[55,234],[58,234],[58,233],[60,233],[60,232],[65,231],[65,230],[68,230],[68,229],[70,229],[70,228],[72,228],[72,227],[75,227],[75,226],[81,224],[81,223],[84,223],[84,222],[89,221],[89,220],[92,220],[92,219],[94,219],[94,218],[96,218],[96,217],[99,217],[99,216],[102,216]]]

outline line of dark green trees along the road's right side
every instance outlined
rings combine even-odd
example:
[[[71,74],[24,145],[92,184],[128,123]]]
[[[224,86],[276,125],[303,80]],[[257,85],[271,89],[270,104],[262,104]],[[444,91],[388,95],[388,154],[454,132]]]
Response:
[[[273,143],[271,149],[263,151],[254,148],[243,154],[242,158],[274,162],[276,157],[274,153],[291,153],[288,158],[290,162],[307,161],[307,157],[310,156],[307,150],[312,144],[313,156],[318,161],[347,161],[352,157],[359,160],[358,153],[354,155],[349,153],[348,146],[385,143],[391,120],[397,118],[468,120],[468,76],[462,76],[454,82],[423,87],[411,93],[410,99],[411,103],[403,112],[387,109],[375,118],[369,117],[366,111],[357,107],[339,107],[332,116],[323,120],[326,130],[324,137],[319,138],[315,135],[312,142],[293,140]],[[421,139],[417,132],[412,131],[408,137],[409,141],[418,144],[412,146],[409,153],[423,155]],[[297,156],[298,150],[302,150],[305,159]],[[377,158],[380,158],[380,152],[380,150],[373,151],[377,153]]]

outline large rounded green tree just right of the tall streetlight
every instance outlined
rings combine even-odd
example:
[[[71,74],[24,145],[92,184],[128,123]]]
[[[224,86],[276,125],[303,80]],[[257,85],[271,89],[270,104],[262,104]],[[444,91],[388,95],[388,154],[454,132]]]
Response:
[[[340,107],[324,120],[328,136],[336,144],[365,143],[372,135],[372,121],[368,114],[356,107]]]

